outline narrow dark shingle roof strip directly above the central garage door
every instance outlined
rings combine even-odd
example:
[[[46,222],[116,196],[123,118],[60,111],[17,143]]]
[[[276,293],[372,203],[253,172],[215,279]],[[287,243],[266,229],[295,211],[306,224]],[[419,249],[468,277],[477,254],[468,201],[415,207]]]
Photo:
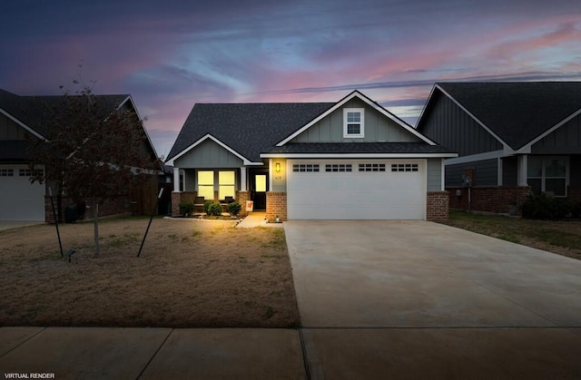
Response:
[[[272,147],[264,153],[453,153],[440,145],[425,142],[294,142]]]

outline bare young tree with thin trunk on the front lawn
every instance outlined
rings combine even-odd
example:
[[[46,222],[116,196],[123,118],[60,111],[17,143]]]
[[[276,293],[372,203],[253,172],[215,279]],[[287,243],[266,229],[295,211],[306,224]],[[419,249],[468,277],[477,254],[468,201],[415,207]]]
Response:
[[[126,194],[160,170],[148,151],[143,122],[132,107],[120,108],[112,96],[94,95],[92,86],[64,92],[44,103],[39,121],[45,140],[32,141],[31,180],[54,183],[74,199],[89,198],[94,212],[94,257],[99,257],[99,203]],[[61,86],[63,89],[63,86]],[[114,101],[114,99],[113,99]],[[37,171],[40,166],[44,171]]]

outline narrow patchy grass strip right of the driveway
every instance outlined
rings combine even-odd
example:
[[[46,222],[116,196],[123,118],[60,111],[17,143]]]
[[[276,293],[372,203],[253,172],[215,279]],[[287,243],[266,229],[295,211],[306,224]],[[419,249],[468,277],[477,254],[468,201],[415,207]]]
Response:
[[[444,224],[581,259],[581,221],[532,220],[450,209]]]

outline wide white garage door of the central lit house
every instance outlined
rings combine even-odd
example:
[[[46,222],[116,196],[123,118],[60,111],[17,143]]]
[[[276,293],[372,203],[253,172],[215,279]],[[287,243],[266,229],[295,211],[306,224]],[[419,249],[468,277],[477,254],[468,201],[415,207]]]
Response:
[[[426,162],[287,161],[289,219],[426,219]]]

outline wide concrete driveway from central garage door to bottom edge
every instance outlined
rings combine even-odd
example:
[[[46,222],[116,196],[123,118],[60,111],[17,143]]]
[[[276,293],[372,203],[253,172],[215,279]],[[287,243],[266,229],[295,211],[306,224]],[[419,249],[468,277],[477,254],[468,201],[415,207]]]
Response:
[[[312,378],[581,377],[581,261],[425,221],[285,231]]]

